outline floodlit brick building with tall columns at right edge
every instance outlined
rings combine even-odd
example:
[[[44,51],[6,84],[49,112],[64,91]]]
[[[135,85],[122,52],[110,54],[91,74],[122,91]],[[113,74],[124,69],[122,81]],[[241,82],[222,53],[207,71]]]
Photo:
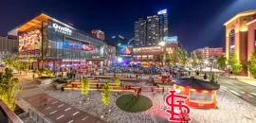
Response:
[[[239,75],[249,76],[247,61],[256,47],[256,9],[240,12],[224,24],[226,26],[226,56],[235,53],[243,64]]]

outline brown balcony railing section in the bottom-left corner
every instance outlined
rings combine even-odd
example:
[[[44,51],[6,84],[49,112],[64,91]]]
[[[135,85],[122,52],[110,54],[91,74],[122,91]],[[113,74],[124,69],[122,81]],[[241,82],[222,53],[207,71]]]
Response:
[[[0,99],[0,122],[23,123],[19,116],[14,114],[2,99]]]

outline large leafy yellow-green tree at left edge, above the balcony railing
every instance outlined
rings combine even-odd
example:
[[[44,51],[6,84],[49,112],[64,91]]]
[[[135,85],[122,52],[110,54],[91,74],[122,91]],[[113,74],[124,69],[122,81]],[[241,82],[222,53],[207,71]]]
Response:
[[[15,90],[19,79],[12,77],[12,70],[5,69],[5,73],[0,73],[0,98],[8,105],[9,109],[14,111],[16,109],[15,97],[17,91]],[[18,91],[22,90],[20,88]]]

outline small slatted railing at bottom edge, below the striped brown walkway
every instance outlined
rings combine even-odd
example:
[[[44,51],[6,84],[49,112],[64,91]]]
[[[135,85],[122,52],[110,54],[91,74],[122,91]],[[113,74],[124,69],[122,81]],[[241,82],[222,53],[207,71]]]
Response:
[[[43,116],[33,112],[32,110],[28,109],[28,116],[34,123],[51,123]]]

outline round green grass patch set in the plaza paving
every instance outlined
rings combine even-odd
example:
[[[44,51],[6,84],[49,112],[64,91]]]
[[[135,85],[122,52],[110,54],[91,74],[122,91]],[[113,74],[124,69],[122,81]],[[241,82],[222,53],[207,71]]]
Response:
[[[150,98],[144,96],[137,97],[133,94],[119,97],[116,103],[121,110],[130,113],[147,111],[153,105]]]

